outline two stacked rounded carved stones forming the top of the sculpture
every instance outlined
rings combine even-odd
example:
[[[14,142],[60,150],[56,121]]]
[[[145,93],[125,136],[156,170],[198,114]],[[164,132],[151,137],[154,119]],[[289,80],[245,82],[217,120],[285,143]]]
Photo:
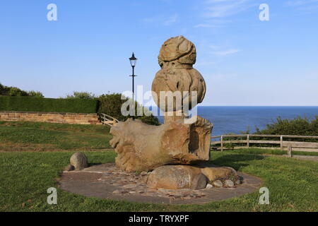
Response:
[[[153,98],[155,103],[164,112],[183,111],[184,105],[187,102],[191,103],[192,98],[197,98],[197,103],[204,100],[206,83],[201,73],[193,68],[195,62],[196,47],[183,36],[172,37],[161,47],[158,56],[161,69],[155,75],[152,90],[156,95]],[[161,106],[160,91],[180,91],[182,92],[182,102],[168,102],[166,99],[164,106]],[[192,96],[192,91],[196,91],[197,95]],[[184,92],[189,92],[189,95]],[[189,104],[189,109],[193,107],[195,106]]]

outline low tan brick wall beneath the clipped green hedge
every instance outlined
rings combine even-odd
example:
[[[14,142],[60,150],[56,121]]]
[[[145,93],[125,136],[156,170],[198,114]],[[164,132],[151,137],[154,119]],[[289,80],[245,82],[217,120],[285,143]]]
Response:
[[[52,112],[0,112],[0,121],[42,121],[63,124],[101,124],[98,114]]]

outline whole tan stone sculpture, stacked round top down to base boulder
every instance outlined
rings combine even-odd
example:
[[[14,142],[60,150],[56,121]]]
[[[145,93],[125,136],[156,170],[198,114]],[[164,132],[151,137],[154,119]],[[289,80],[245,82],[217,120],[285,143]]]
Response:
[[[161,69],[152,84],[153,100],[165,112],[165,124],[151,126],[128,119],[110,130],[117,167],[126,172],[154,169],[147,182],[151,188],[202,189],[219,179],[237,180],[232,168],[194,165],[210,159],[213,128],[201,117],[185,123],[187,111],[202,102],[206,93],[204,78],[193,68],[195,62],[192,42],[182,36],[167,40],[160,49]],[[168,101],[165,94],[175,92],[181,95]]]

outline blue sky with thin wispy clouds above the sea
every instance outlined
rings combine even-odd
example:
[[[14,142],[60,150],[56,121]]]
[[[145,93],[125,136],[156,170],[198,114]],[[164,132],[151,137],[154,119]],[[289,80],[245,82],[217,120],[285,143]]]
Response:
[[[47,5],[57,5],[57,21]],[[269,21],[259,20],[260,4]],[[203,105],[318,105],[318,0],[2,0],[0,83],[45,97],[144,90],[161,44],[184,35],[207,85]]]

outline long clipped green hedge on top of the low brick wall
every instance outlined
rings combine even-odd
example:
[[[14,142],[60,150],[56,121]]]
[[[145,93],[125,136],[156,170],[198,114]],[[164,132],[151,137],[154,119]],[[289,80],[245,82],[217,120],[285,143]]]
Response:
[[[0,111],[96,113],[98,100],[0,96]]]

